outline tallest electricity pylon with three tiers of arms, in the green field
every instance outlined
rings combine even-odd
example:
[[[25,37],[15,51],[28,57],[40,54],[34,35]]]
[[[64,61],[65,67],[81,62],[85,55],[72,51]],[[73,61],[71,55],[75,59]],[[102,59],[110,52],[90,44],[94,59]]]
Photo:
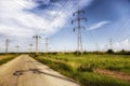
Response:
[[[81,13],[84,13],[84,11],[81,11],[81,10],[78,10],[77,12],[75,12],[73,14],[73,16],[77,16],[76,19],[72,20],[72,24],[74,24],[75,22],[78,23],[78,27],[75,27],[74,28],[74,31],[76,29],[78,29],[78,41],[77,41],[77,54],[79,53],[82,53],[82,38],[81,38],[81,29],[86,29],[86,27],[81,26],[81,20],[86,20],[87,22],[87,18],[86,17],[80,17],[81,16]]]

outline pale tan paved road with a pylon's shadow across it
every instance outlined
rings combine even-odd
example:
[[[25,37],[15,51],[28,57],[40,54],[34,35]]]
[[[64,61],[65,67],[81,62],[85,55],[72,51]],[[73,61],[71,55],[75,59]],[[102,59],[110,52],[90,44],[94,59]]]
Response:
[[[0,67],[0,86],[79,86],[28,55]]]

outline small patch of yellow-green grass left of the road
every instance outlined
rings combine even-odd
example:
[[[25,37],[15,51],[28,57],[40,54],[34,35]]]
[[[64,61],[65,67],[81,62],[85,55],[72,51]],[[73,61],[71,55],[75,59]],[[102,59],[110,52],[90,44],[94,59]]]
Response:
[[[0,66],[3,64],[3,63],[6,63],[8,61],[14,59],[15,57],[17,57],[18,55],[16,54],[3,54],[3,55],[0,55]]]

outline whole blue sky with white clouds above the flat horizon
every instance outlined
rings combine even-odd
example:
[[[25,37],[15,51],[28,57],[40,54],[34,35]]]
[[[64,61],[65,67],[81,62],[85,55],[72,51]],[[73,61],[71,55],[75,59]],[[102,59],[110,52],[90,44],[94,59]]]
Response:
[[[82,20],[83,49],[106,51],[109,40],[113,48],[130,49],[130,0],[0,0],[0,51],[4,52],[5,39],[10,52],[29,51],[34,35],[39,34],[39,51],[44,51],[44,38],[49,37],[50,51],[75,51],[77,31],[72,20],[77,10],[86,13]]]

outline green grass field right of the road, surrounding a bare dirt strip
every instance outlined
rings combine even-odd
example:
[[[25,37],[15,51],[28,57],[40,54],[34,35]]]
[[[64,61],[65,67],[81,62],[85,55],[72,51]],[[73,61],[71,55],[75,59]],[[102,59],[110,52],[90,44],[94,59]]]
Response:
[[[130,86],[128,81],[94,72],[95,69],[100,68],[130,75],[129,55],[50,54],[39,55],[36,59],[78,81],[81,86]]]

